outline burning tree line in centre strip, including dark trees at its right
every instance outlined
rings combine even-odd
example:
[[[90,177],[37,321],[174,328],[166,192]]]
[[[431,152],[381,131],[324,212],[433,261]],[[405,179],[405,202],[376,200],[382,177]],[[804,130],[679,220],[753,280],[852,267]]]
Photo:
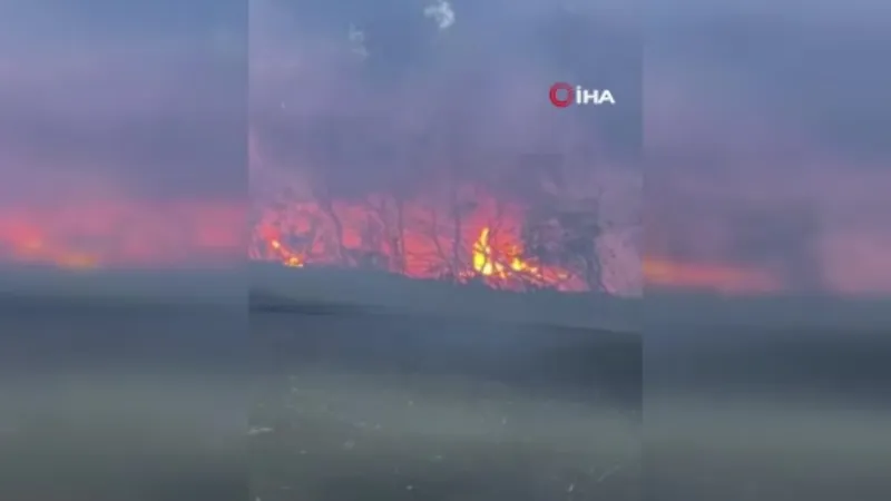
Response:
[[[528,206],[481,184],[335,197],[324,184],[254,207],[249,257],[490,287],[605,291],[595,198]]]

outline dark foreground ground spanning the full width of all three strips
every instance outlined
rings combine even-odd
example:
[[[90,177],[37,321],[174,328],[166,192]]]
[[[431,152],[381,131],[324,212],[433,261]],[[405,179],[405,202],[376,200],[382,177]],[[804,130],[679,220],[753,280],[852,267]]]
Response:
[[[254,313],[0,301],[0,499],[891,499],[878,327]]]

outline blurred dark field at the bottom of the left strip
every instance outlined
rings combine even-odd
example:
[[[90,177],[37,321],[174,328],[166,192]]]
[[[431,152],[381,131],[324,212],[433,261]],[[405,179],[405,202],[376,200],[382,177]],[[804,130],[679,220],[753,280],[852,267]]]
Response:
[[[244,307],[0,302],[0,499],[244,501]]]

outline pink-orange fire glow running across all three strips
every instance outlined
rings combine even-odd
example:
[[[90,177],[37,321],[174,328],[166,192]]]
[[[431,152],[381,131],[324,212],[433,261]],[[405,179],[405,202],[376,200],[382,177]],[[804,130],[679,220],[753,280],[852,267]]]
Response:
[[[264,204],[252,223],[248,257],[288,267],[370,267],[512,291],[589,289],[577,272],[527,253],[521,206],[488,195],[477,200],[459,218],[432,204],[383,195]],[[243,206],[229,202],[6,207],[0,209],[0,261],[66,269],[227,264],[244,255],[247,224]],[[783,288],[763,271],[731,263],[648,257],[643,273],[657,288],[731,294]]]

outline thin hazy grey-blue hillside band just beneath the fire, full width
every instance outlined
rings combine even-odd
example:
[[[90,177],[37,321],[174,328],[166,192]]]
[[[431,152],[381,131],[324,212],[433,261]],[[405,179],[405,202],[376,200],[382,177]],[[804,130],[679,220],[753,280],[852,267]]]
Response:
[[[753,296],[647,292],[645,301],[598,294],[510,293],[354,269],[246,268],[89,271],[0,268],[0,298],[56,298],[81,304],[225,304],[254,308],[363,307],[392,313],[484,317],[582,328],[640,332],[656,327],[743,326],[891,332],[883,297]]]

